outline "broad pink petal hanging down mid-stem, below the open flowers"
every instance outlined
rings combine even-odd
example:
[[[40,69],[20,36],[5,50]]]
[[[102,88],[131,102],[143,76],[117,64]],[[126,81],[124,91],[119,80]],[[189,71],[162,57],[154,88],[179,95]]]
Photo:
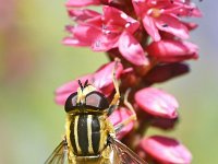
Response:
[[[148,65],[148,59],[140,43],[128,32],[123,32],[119,39],[119,50],[130,62],[136,66]]]

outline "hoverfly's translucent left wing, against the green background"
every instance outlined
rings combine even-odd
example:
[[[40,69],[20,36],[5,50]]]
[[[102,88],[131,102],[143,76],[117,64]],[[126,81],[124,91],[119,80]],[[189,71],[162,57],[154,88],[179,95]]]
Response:
[[[65,140],[55,149],[45,164],[68,164],[68,143]]]

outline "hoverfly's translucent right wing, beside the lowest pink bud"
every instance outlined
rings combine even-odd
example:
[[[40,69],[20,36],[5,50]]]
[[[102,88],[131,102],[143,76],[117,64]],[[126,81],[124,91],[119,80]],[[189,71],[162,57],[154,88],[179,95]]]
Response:
[[[109,137],[109,142],[118,154],[120,164],[148,164],[119,140]]]

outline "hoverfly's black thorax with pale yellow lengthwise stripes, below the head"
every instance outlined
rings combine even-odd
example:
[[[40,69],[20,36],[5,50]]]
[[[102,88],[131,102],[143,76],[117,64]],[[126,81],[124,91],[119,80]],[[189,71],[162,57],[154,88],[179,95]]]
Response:
[[[68,140],[76,156],[96,156],[107,147],[109,121],[104,115],[70,116]],[[69,132],[68,132],[69,130]]]

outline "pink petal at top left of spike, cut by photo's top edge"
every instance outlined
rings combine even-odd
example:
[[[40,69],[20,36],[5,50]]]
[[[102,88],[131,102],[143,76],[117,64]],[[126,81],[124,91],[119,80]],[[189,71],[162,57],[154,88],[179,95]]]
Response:
[[[86,7],[86,5],[97,5],[100,4],[100,0],[68,0],[68,2],[65,3],[65,5],[68,8],[71,7]]]

